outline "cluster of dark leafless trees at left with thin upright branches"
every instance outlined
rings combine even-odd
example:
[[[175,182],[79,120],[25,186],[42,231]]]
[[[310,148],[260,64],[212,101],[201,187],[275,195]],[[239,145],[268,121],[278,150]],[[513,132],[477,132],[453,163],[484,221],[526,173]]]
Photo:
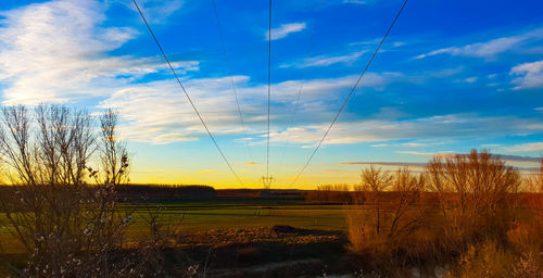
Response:
[[[42,104],[33,118],[24,106],[3,109],[0,152],[13,187],[0,208],[28,256],[21,276],[115,277],[134,264],[113,260],[130,219],[116,206],[115,188],[128,177],[116,125],[106,111],[96,140],[86,111]],[[96,149],[100,170],[88,166]]]

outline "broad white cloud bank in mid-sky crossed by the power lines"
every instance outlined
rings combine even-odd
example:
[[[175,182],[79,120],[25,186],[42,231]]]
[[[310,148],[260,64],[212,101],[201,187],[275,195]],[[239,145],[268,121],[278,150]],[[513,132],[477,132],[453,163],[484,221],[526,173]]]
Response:
[[[384,86],[382,79],[378,78],[379,75],[368,75],[367,77],[367,86]],[[248,76],[232,76],[232,78],[238,89],[247,132],[254,136],[254,138],[243,138],[236,140],[236,142],[260,143],[260,135],[264,134],[264,123],[267,121],[264,109],[267,101],[267,86],[264,84],[252,85],[249,83]],[[299,108],[301,116],[298,118],[298,123],[329,119],[332,116],[330,106],[333,105],[334,109],[337,104],[333,100],[343,97],[342,89],[353,86],[355,79],[356,76],[346,76],[306,80],[304,83],[303,104]],[[182,81],[213,134],[243,134],[229,76],[192,78]],[[290,118],[293,101],[301,85],[301,80],[273,85],[273,125],[276,123],[280,125]],[[325,96],[328,102],[323,101]],[[171,143],[198,140],[199,137],[206,136],[185,94],[173,80],[126,85],[103,100],[100,106],[119,111],[123,119],[126,121],[122,134],[131,141]],[[161,113],[156,113],[156,111]]]

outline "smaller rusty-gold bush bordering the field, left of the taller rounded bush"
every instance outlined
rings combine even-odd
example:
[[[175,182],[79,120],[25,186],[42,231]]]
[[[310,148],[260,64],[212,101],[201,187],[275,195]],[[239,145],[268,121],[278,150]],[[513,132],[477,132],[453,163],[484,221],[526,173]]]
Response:
[[[391,175],[374,166],[364,169],[361,177],[366,202],[346,208],[350,249],[394,255],[421,227],[426,178],[408,168]]]

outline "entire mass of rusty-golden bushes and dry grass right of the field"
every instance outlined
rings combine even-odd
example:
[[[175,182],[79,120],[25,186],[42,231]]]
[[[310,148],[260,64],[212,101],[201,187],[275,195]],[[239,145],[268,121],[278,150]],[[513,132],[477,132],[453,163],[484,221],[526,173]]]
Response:
[[[522,181],[498,157],[434,157],[418,177],[370,167],[362,180],[371,208],[345,210],[350,249],[386,276],[440,266],[449,277],[543,277],[543,202],[519,199],[539,179]],[[399,198],[383,199],[389,189]]]

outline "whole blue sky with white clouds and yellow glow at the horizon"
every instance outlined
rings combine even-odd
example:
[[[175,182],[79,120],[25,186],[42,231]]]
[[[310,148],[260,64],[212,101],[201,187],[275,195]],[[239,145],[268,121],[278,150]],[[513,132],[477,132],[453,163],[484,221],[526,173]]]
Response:
[[[242,184],[129,0],[1,1],[2,104],[114,109],[131,182],[262,187],[268,1],[138,3]],[[523,170],[538,165],[543,2],[412,0],[293,184],[402,3],[273,2],[272,188],[354,184],[371,163],[421,169],[433,155],[471,149]]]

